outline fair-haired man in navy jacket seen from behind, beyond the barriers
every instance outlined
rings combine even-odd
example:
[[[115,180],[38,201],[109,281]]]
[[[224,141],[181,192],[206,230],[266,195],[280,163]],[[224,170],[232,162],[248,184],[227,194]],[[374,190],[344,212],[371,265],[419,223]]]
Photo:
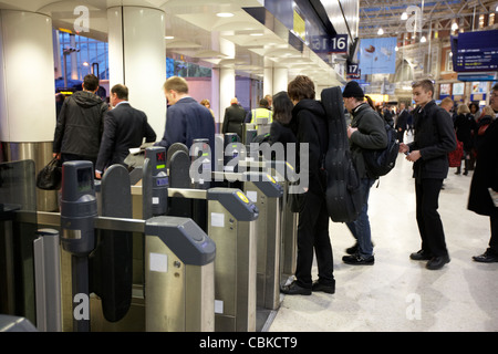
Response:
[[[166,128],[163,139],[155,145],[167,149],[175,143],[183,143],[188,148],[194,139],[209,139],[209,147],[215,149],[215,122],[208,108],[188,95],[188,83],[179,76],[172,76],[164,83],[164,94],[169,107],[166,112]]]

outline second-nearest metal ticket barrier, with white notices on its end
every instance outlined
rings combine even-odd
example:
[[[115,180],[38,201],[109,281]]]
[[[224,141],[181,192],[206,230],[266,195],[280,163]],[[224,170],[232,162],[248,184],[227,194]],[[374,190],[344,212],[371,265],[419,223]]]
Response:
[[[154,175],[157,170],[154,162],[149,163],[151,167],[144,168],[144,179],[151,179],[147,174]],[[204,211],[207,217],[206,231],[216,243],[217,249],[215,300],[212,302],[215,330],[218,332],[255,332],[257,320],[255,220],[259,217],[259,210],[237,188],[191,188],[195,183],[189,175],[190,164],[190,157],[185,148],[177,148],[170,155],[170,160],[167,162],[169,166],[168,212],[181,216],[194,214],[194,204],[178,205],[178,201],[205,201],[207,204],[207,209]],[[151,204],[145,187],[133,187],[132,192],[142,194],[144,205]],[[145,206],[143,208],[146,209]]]

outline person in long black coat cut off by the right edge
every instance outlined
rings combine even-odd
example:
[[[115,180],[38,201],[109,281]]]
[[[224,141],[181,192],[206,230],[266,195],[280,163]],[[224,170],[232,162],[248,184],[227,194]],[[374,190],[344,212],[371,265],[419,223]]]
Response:
[[[491,108],[498,114],[498,84],[492,87]],[[495,117],[486,129],[477,149],[477,164],[470,184],[468,209],[489,216],[491,238],[489,248],[473,259],[477,262],[498,262],[498,207],[494,205],[489,189],[498,192],[498,119]]]

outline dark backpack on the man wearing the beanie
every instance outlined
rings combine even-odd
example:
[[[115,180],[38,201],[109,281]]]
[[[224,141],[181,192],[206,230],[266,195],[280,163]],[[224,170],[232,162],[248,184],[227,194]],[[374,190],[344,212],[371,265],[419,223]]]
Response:
[[[384,119],[383,122],[387,134],[387,146],[381,149],[362,149],[366,169],[375,177],[385,176],[394,168],[400,150],[396,129]]]

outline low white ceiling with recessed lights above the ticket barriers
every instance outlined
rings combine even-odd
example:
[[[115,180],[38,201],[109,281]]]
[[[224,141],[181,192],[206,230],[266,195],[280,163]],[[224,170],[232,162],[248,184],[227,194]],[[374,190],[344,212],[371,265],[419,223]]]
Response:
[[[292,34],[267,11],[264,23],[245,8],[262,8],[259,0],[0,0],[0,9],[41,12],[55,28],[73,28],[76,6],[90,10],[90,32],[107,41],[107,9],[152,7],[166,14],[166,55],[211,67],[232,67],[237,74],[262,79],[266,67],[287,67],[289,77],[305,74],[317,84],[343,84],[330,65],[307,45],[295,49]],[[231,13],[224,18],[218,13]]]

